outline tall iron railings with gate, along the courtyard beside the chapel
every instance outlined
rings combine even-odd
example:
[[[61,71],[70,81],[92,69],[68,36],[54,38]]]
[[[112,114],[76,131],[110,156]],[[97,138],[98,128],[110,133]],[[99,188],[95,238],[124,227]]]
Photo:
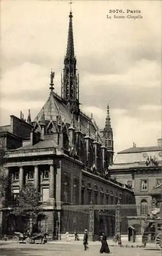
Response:
[[[90,208],[93,207],[90,214]],[[64,205],[62,207],[62,228],[61,232],[84,233],[93,222],[93,233],[97,234],[99,229],[103,230],[107,236],[113,237],[115,232],[128,234],[128,227],[133,227],[136,234],[143,233],[144,219],[147,212],[151,212],[152,205],[147,209],[142,209],[141,205],[117,204],[117,205]],[[119,230],[120,229],[120,230]]]

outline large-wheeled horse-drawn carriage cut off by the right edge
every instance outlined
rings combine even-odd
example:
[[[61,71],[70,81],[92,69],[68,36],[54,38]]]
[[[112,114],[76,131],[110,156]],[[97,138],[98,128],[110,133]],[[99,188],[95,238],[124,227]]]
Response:
[[[153,211],[152,211],[153,212]],[[154,211],[145,221],[145,229],[142,236],[142,243],[155,243],[157,249],[162,247],[162,212],[159,209]]]

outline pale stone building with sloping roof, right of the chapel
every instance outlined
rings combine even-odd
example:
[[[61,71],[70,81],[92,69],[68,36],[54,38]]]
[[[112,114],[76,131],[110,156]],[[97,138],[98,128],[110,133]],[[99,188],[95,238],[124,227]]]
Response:
[[[132,188],[136,204],[141,206],[139,214],[149,213],[152,196],[158,204],[162,185],[162,139],[156,146],[133,147],[119,152],[109,167],[111,178]],[[157,189],[158,188],[158,189]]]

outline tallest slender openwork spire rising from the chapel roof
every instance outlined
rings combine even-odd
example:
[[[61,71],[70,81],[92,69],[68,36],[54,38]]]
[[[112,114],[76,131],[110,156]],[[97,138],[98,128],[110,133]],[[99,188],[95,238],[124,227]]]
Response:
[[[61,84],[61,96],[66,101],[70,112],[79,114],[79,77],[76,72],[76,57],[74,55],[74,40],[72,29],[72,11],[69,15],[69,31],[67,40],[67,51],[64,58],[64,69]]]

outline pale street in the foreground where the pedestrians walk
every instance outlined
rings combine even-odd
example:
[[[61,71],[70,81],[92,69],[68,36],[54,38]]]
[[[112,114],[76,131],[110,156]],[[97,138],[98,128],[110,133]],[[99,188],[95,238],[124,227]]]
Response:
[[[96,256],[99,255],[100,243],[90,242],[89,250],[84,251],[82,241],[79,243],[47,243],[41,244],[17,244],[17,243],[0,243],[1,256]],[[161,251],[156,250],[155,246],[146,248],[120,248],[110,246],[112,256],[161,256]]]

